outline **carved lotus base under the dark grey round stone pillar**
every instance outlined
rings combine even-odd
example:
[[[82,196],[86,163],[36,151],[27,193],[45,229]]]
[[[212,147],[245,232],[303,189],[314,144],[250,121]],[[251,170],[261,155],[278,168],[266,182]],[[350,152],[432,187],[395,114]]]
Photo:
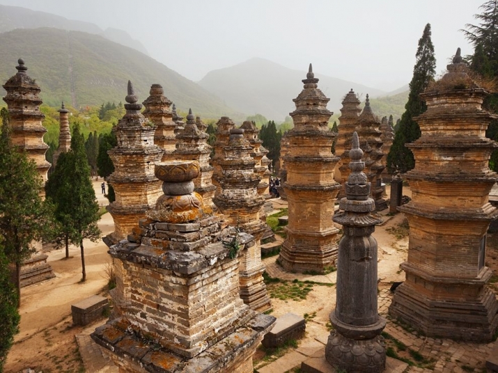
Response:
[[[327,362],[347,372],[383,372],[386,367],[384,338],[351,340],[332,331],[325,347]]]

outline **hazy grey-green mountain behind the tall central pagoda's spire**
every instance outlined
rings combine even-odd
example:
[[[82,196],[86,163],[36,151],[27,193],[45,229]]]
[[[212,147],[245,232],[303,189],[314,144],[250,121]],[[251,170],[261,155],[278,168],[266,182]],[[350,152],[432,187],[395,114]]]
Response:
[[[352,88],[365,97],[385,95],[385,92],[318,73],[320,68],[313,67],[315,77],[320,79],[318,88],[330,98],[329,110],[339,113],[343,97]],[[308,66],[303,70],[291,70],[263,58],[251,58],[230,68],[208,72],[199,84],[220,97],[228,106],[249,114],[259,113],[268,119],[283,120],[295,109],[293,99],[303,88]]]

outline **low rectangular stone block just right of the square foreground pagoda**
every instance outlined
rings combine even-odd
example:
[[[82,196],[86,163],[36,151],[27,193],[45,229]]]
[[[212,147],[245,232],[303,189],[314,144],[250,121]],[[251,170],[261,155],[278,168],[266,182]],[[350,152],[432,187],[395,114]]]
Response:
[[[286,315],[277,318],[275,326],[265,335],[261,343],[267,348],[278,347],[288,340],[299,338],[305,329],[306,321],[303,317],[286,313]]]

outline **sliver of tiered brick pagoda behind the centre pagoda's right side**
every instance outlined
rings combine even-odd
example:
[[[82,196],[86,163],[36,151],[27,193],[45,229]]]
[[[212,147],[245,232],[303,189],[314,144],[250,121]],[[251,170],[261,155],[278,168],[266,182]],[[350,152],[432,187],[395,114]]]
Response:
[[[244,129],[244,138],[249,141],[249,145],[252,147],[251,157],[254,158],[256,164],[254,165],[254,172],[260,178],[260,182],[258,184],[258,194],[263,196],[266,199],[270,198],[269,186],[267,180],[269,179],[271,173],[268,169],[268,164],[270,164],[270,159],[266,157],[268,154],[268,150],[263,148],[262,140],[258,137],[259,129],[254,125],[250,120],[246,120],[242,123],[240,128]],[[274,237],[274,233],[272,228],[266,223],[266,209],[273,210],[272,203],[267,201],[263,206],[261,206],[259,216],[260,220],[265,224],[265,232],[263,233],[263,237],[261,239],[272,239]]]

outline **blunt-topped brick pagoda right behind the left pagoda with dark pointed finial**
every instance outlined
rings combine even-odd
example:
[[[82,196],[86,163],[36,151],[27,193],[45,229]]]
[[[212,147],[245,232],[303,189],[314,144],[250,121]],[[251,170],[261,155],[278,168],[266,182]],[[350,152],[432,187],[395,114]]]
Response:
[[[164,96],[164,90],[159,84],[150,86],[150,96],[142,102],[146,108],[143,116],[156,126],[154,144],[164,149],[162,160],[171,159],[171,153],[176,149],[176,122],[173,121],[173,112],[169,109],[171,101]]]

